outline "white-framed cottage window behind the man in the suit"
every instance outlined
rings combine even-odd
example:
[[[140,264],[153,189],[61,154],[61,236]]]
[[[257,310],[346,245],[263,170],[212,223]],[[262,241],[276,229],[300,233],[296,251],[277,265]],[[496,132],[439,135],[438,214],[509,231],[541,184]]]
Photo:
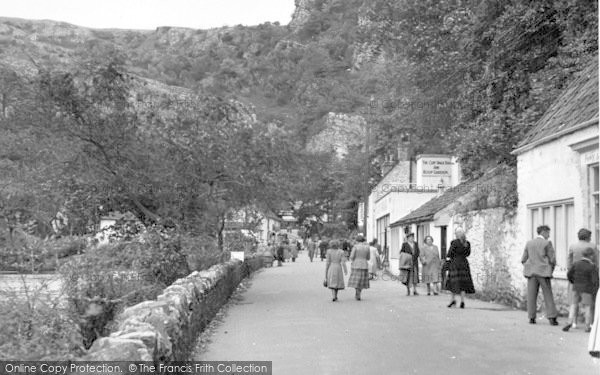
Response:
[[[556,250],[557,276],[567,271],[569,244],[577,240],[577,228],[574,227],[575,209],[573,199],[556,202],[538,203],[527,206],[529,210],[530,238],[537,236],[537,227],[550,227],[550,238]],[[562,274],[562,275],[561,275]]]

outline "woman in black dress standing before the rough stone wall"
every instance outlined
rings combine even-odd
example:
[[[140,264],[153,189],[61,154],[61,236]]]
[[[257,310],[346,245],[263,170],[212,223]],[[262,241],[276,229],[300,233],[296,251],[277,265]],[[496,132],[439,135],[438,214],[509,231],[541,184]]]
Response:
[[[448,280],[446,289],[452,293],[452,300],[448,307],[456,305],[456,295],[460,294],[460,308],[465,308],[465,293],[475,293],[471,269],[467,257],[471,255],[471,244],[467,241],[465,231],[457,228],[454,232],[456,239],[450,243],[450,250],[446,261],[448,262]]]

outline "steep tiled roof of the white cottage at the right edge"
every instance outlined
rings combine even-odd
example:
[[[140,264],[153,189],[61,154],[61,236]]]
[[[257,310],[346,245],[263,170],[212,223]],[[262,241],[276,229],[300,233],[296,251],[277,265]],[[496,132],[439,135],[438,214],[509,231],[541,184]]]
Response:
[[[588,66],[567,86],[550,105],[535,126],[517,145],[519,154],[565,133],[575,131],[593,120],[598,121],[598,59]]]

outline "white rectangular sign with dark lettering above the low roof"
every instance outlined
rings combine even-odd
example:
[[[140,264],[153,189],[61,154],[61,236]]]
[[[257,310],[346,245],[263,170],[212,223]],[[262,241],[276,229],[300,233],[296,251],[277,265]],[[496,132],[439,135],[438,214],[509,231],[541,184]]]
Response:
[[[437,188],[452,186],[455,161],[450,155],[421,155],[417,158],[417,185]]]

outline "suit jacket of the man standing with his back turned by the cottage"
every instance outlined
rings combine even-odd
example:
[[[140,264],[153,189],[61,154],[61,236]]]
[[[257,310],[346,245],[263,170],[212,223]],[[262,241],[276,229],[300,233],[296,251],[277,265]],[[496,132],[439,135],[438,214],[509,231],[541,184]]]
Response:
[[[552,242],[541,236],[527,241],[521,263],[525,277],[552,277],[556,266],[556,253]]]

